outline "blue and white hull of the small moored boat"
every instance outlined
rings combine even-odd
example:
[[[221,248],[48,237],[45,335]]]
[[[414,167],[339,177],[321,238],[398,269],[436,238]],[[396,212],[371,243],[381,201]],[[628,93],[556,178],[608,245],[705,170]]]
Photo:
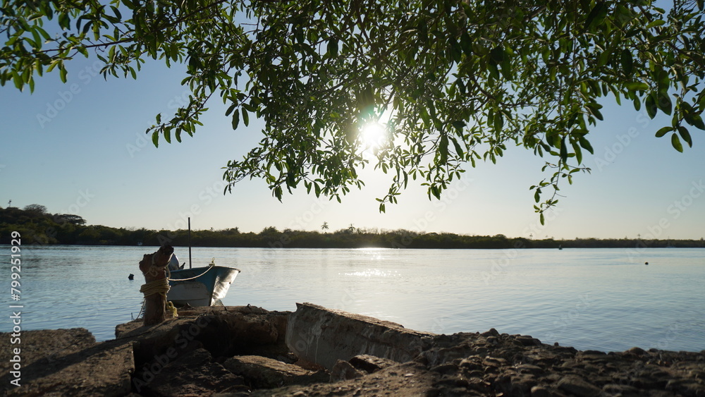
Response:
[[[225,298],[240,269],[224,266],[194,267],[171,271],[166,300],[175,306],[211,306]]]

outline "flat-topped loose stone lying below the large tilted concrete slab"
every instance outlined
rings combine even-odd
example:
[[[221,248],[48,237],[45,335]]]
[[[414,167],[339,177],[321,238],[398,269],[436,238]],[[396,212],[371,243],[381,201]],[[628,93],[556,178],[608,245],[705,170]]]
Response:
[[[240,355],[223,362],[228,371],[243,377],[253,389],[274,389],[290,384],[312,384],[328,381],[326,372],[313,372],[258,355]]]

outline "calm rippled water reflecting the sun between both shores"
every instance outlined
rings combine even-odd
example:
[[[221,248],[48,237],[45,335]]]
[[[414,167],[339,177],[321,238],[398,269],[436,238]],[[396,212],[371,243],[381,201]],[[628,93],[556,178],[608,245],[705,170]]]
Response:
[[[137,262],[154,250],[23,247],[23,329],[82,326],[98,340],[113,338],[116,324],[140,311]],[[188,261],[188,248],[176,254]],[[10,256],[8,245],[0,255]],[[311,302],[438,334],[494,327],[580,350],[705,350],[701,249],[194,248],[192,257],[194,266],[215,257],[242,269],[226,305],[295,310]],[[3,271],[10,305],[10,269]],[[10,329],[0,322],[0,331]]]

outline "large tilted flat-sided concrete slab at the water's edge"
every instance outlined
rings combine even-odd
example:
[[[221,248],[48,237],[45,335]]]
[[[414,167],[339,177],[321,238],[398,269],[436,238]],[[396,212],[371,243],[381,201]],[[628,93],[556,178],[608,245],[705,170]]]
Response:
[[[289,317],[286,345],[298,357],[326,369],[332,369],[338,360],[348,361],[360,354],[409,361],[428,348],[434,336],[311,303],[296,306]]]

